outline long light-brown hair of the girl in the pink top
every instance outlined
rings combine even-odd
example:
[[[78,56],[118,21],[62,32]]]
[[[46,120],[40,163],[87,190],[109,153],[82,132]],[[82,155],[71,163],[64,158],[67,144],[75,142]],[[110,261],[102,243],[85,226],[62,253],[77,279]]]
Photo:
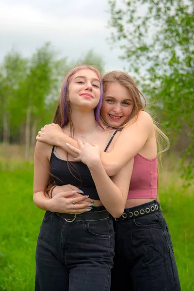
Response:
[[[132,123],[134,123],[137,118],[138,114],[140,111],[145,111],[146,108],[146,98],[142,94],[142,92],[138,89],[137,84],[135,81],[125,72],[122,71],[112,71],[107,74],[105,74],[102,78],[102,83],[103,83],[103,91],[104,93],[106,92],[107,86],[110,83],[119,83],[120,85],[126,87],[129,91],[130,97],[133,99],[133,110],[129,116],[128,121],[121,125],[117,129],[123,129],[127,126],[131,125],[131,120],[133,120]],[[109,124],[101,117],[101,121],[105,126],[109,126]],[[153,120],[154,123],[154,129],[155,129],[155,134],[156,134],[156,141],[157,141],[157,147],[158,147],[158,156],[159,156],[159,161],[160,164],[162,165],[162,152],[168,150],[170,146],[170,142],[168,137],[162,132],[161,129],[159,129],[156,126],[155,121]],[[162,148],[162,145],[165,143],[165,147]],[[159,175],[159,166],[157,165],[157,172]],[[159,183],[157,184],[159,186]],[[159,200],[159,198],[157,198]]]

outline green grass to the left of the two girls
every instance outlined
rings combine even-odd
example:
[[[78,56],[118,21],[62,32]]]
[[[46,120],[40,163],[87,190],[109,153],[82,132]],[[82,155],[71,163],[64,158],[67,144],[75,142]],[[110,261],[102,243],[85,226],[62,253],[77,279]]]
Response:
[[[34,290],[35,246],[43,210],[33,205],[33,166],[0,169],[0,291]]]

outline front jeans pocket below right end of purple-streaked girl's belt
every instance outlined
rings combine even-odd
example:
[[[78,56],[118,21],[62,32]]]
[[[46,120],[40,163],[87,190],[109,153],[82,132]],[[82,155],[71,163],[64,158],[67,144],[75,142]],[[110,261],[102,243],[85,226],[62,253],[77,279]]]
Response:
[[[113,233],[113,223],[109,219],[87,222],[86,227],[91,235],[98,238],[110,239]]]

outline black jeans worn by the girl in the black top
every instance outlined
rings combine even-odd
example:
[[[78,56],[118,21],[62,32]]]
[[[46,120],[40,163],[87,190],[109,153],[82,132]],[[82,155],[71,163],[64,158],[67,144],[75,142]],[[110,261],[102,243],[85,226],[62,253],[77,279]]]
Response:
[[[69,223],[47,211],[36,247],[35,291],[109,291],[113,256],[112,218]]]

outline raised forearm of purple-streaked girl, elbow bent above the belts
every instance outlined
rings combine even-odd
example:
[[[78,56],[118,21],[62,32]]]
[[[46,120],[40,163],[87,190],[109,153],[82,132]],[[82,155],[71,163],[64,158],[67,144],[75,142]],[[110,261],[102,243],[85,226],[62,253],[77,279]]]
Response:
[[[126,201],[120,189],[108,177],[101,162],[90,168],[92,178],[95,182],[97,193],[104,207],[113,215],[118,217],[123,213]]]

